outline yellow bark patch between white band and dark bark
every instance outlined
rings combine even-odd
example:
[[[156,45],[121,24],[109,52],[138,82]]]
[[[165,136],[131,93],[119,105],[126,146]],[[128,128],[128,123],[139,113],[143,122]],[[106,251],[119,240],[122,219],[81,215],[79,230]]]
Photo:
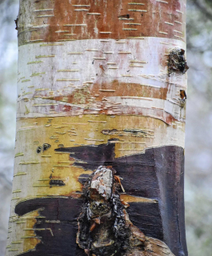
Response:
[[[181,127],[183,132],[184,126]],[[14,202],[29,197],[74,196],[76,191],[82,190],[78,177],[90,171],[74,166],[77,160],[71,158],[71,154],[55,152],[59,147],[100,145],[113,139],[110,143],[115,144],[115,158],[120,158],[141,154],[148,147],[160,146],[163,140],[164,144],[178,145],[177,135],[168,138],[170,142],[162,138],[168,129],[175,130],[158,119],[140,116],[88,114],[18,120],[16,151],[22,155],[15,158],[14,179],[20,180],[14,184],[21,183],[25,187]],[[44,145],[47,148],[43,148]],[[65,186],[50,186],[51,179],[62,180]],[[14,190],[19,189],[14,187]]]

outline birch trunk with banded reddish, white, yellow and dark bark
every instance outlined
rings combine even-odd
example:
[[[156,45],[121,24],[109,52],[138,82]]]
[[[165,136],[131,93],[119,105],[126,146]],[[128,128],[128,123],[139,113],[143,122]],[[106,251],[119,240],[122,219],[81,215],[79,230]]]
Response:
[[[20,1],[6,255],[187,255],[185,12]]]

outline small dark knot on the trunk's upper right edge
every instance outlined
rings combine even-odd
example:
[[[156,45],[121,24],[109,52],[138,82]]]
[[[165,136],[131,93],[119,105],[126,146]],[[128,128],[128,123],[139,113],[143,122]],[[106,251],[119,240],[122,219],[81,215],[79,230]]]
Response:
[[[188,69],[189,67],[186,63],[185,50],[179,48],[171,50],[168,59],[169,75],[173,74],[174,72],[185,74]]]

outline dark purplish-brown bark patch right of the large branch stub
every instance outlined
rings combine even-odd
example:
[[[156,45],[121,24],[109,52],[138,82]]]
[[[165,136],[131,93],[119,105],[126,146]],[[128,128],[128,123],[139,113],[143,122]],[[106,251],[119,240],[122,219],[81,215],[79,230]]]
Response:
[[[85,170],[96,170],[101,165],[112,166],[122,178],[126,194],[158,200],[158,205],[130,203],[130,219],[145,235],[166,242],[173,254],[187,255],[182,147],[161,146],[147,149],[145,154],[121,158],[115,158],[114,143],[56,151],[70,152],[70,158],[77,160],[74,165]]]

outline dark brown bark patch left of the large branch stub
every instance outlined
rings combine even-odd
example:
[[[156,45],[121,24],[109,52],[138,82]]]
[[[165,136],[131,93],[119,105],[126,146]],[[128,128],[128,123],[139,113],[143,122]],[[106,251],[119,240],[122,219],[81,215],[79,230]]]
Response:
[[[36,236],[42,238],[41,242],[22,256],[83,256],[84,251],[76,244],[78,232],[77,218],[82,206],[81,199],[74,198],[34,198],[19,202],[15,213],[19,216],[33,210],[39,210],[43,218],[37,218],[34,225]],[[50,233],[52,230],[52,234]]]

